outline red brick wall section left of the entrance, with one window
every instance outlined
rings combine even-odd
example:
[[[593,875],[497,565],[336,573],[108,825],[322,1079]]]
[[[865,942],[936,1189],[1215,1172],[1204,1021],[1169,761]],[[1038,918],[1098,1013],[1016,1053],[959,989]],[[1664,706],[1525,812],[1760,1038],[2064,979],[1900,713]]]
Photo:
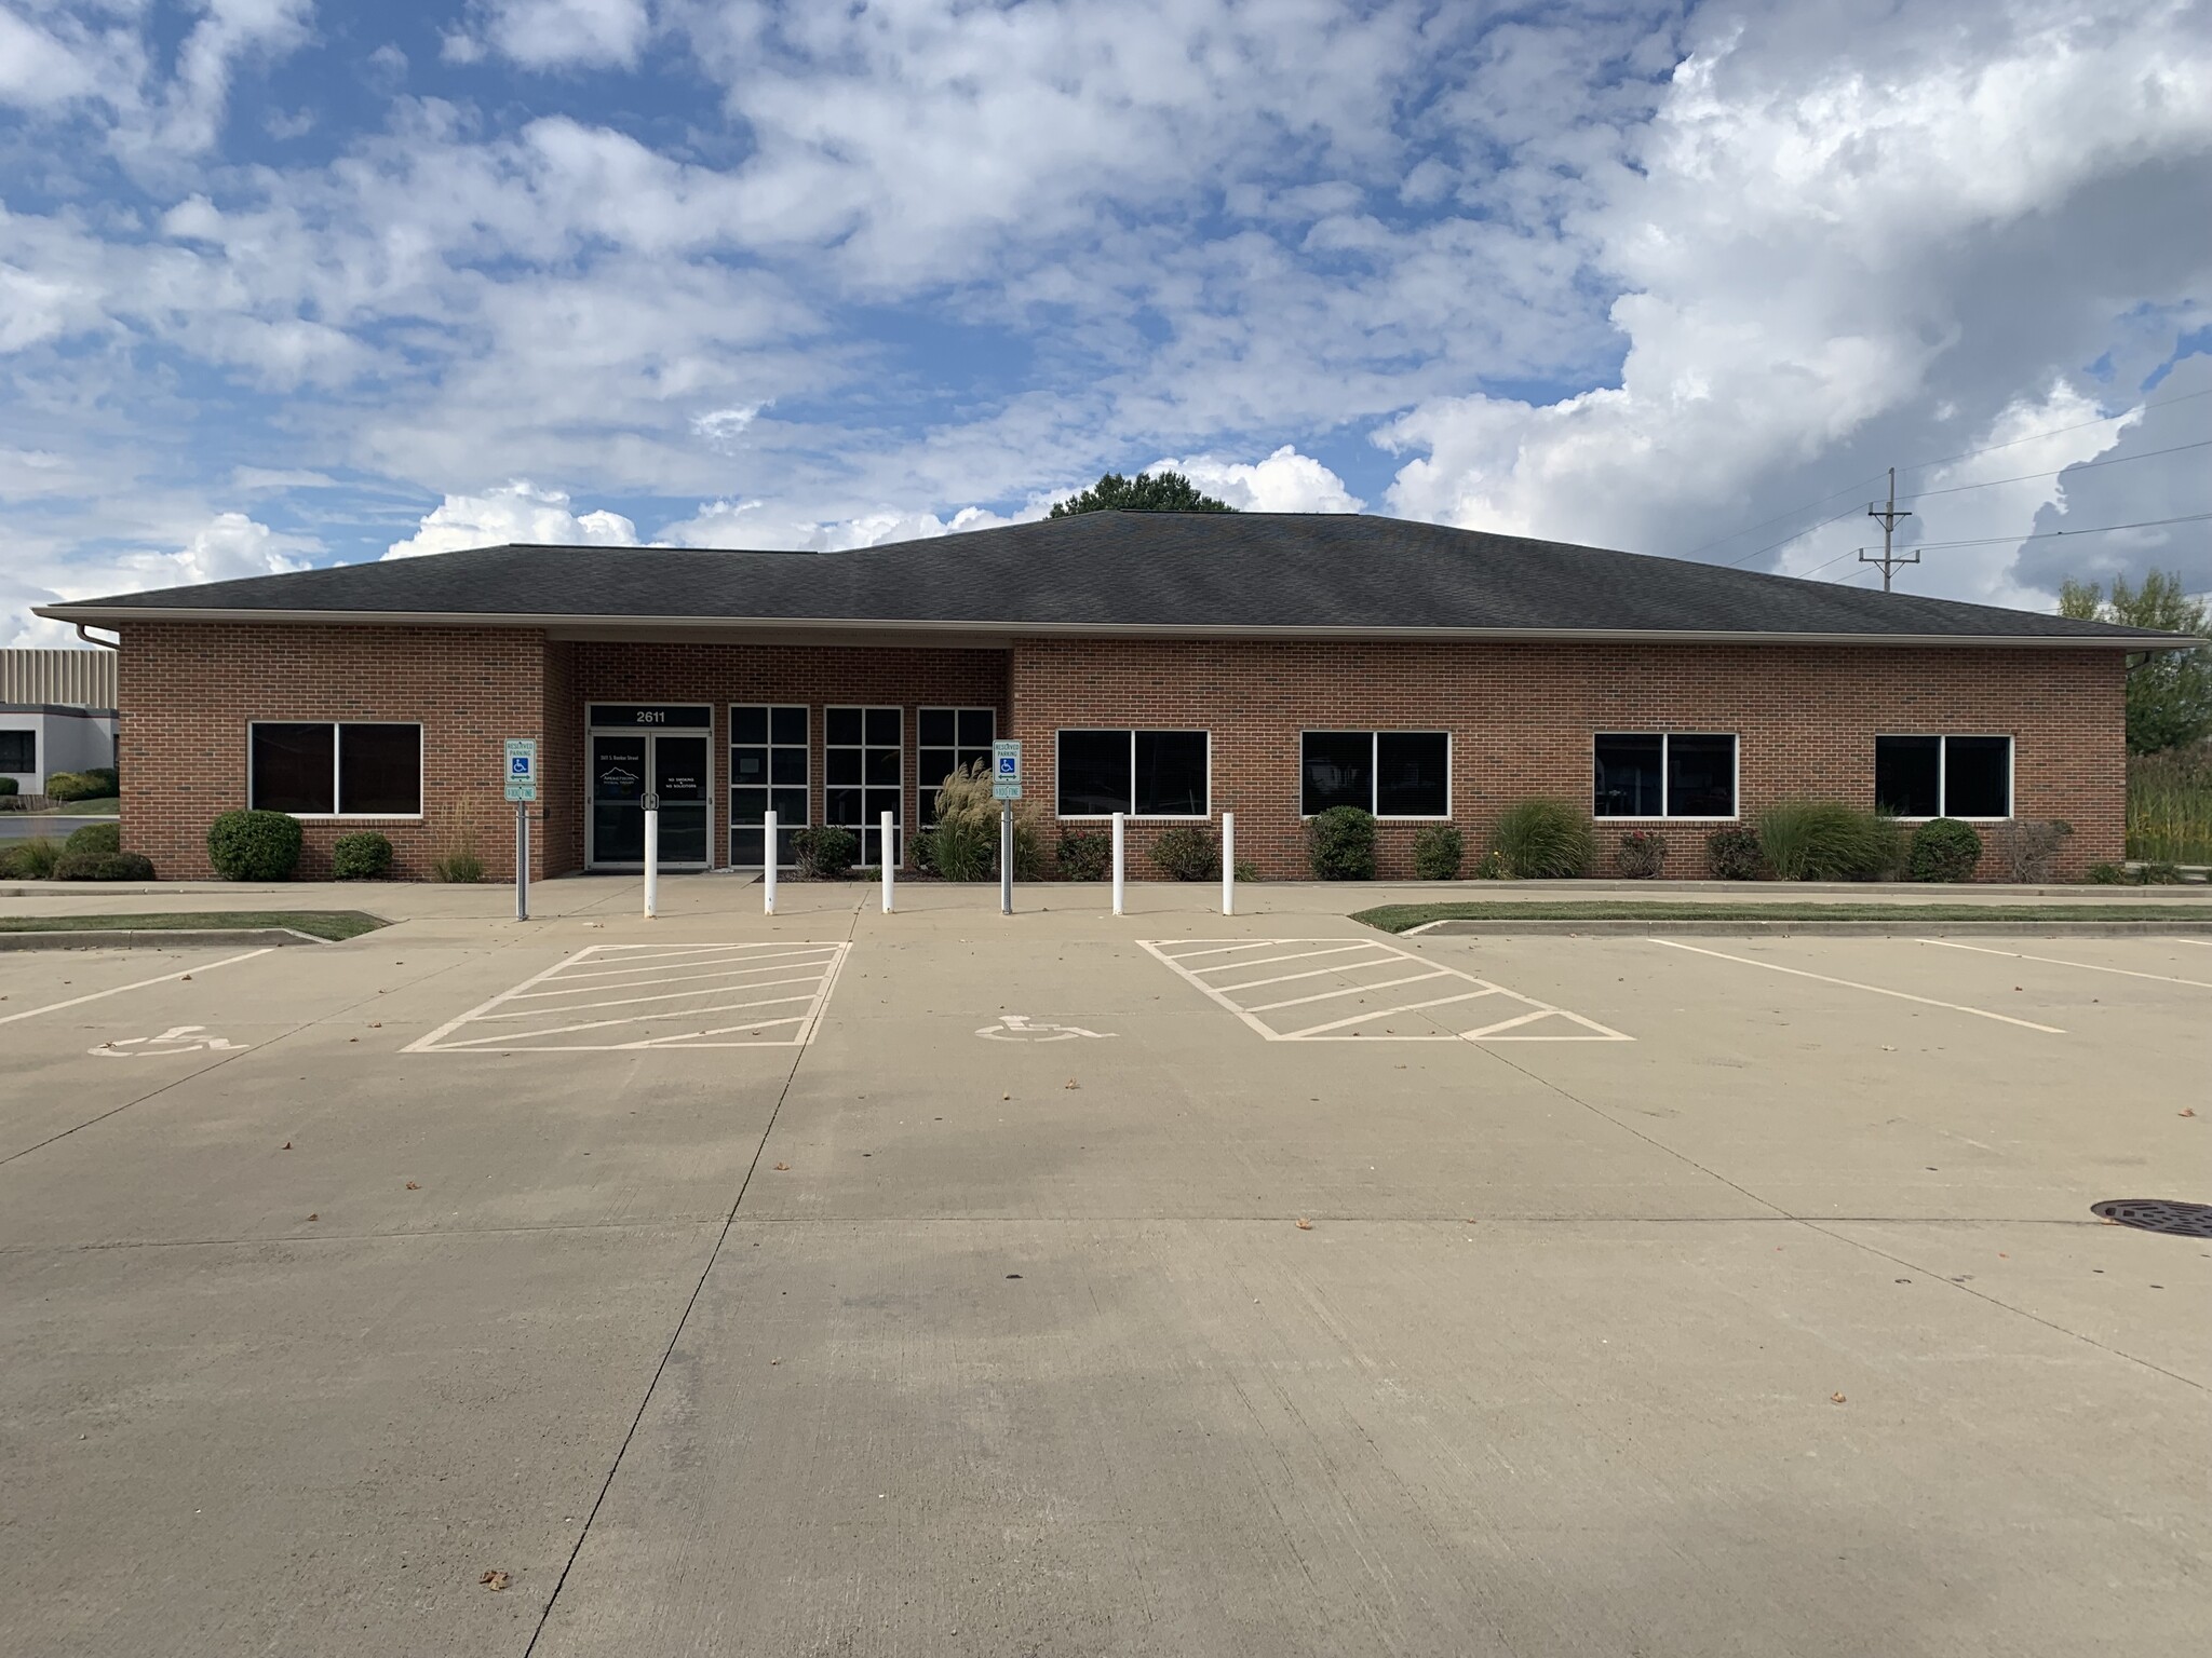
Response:
[[[124,847],[170,880],[208,878],[208,825],[246,800],[248,721],[420,721],[420,818],[305,818],[303,878],[338,836],[376,829],[394,873],[469,842],[513,880],[502,741],[540,736],[544,639],[520,628],[296,628],[133,621],[119,628]],[[538,862],[538,860],[533,860]]]

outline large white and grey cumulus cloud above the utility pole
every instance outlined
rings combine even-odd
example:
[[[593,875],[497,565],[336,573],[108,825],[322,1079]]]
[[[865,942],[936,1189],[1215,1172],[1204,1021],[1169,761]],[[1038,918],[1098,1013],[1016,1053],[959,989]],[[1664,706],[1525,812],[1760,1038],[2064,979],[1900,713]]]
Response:
[[[1991,13],[1964,62],[1938,7],[1905,9],[1871,64],[1827,51],[1796,7],[1714,31],[1674,73],[1641,166],[1584,221],[1626,287],[1619,382],[1418,405],[1378,433],[1418,451],[1391,508],[1672,553],[1823,493],[1816,480],[2101,413],[2112,393],[2088,365],[2128,296],[2212,294],[2212,241],[2172,232],[2212,159],[2212,35],[2194,7],[2132,11],[2132,27]],[[2057,469],[2110,438],[2042,453]],[[2026,533],[2053,493],[1960,493],[1913,531]],[[1829,562],[1843,537],[1865,542],[1865,524],[1785,557]],[[1931,553],[1909,586],[2048,601],[2008,564]]]

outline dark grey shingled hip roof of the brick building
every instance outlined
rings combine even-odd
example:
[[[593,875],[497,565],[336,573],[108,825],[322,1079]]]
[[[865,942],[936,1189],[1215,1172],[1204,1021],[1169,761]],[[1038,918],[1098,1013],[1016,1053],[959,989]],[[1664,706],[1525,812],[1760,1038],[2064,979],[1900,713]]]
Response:
[[[1347,513],[1084,513],[858,553],[489,546],[84,599],[40,615],[953,626],[1013,634],[2172,639]]]

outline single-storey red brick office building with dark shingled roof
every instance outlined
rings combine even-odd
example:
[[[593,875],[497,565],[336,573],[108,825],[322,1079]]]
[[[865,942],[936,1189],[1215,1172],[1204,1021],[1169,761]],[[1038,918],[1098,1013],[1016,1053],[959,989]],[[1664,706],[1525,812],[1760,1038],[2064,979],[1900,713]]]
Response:
[[[303,873],[380,829],[398,873],[511,873],[502,741],[540,743],[538,875],[759,867],[761,814],[878,851],[1024,743],[1057,827],[1237,814],[1263,875],[1363,805],[1480,844],[1531,794],[1705,833],[1816,796],[2066,818],[2119,858],[2128,652],[2168,634],[1354,515],[1088,513],[860,553],[495,546],[46,606],[122,637],[124,844],[206,875],[208,822],[299,814]],[[790,836],[783,836],[790,860]]]

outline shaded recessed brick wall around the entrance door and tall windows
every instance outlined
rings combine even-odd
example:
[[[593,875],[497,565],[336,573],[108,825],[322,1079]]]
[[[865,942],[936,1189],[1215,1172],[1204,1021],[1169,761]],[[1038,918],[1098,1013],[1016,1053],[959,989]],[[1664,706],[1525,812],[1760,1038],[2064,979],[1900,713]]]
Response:
[[[1006,727],[1004,650],[907,650],[874,646],[690,646],[690,643],[582,643],[575,646],[568,707],[560,723],[584,730],[588,703],[710,703],[714,707],[712,776],[714,816],[708,833],[717,864],[730,862],[730,703],[805,703],[810,822],[823,820],[823,707],[900,707],[905,736],[905,822],[920,822],[922,780],[914,776],[914,710],[995,707]],[[549,727],[555,716],[549,712]],[[560,774],[549,774],[549,780]],[[562,842],[564,867],[584,864],[584,769],[568,780],[573,829]],[[938,778],[929,778],[933,791]]]

